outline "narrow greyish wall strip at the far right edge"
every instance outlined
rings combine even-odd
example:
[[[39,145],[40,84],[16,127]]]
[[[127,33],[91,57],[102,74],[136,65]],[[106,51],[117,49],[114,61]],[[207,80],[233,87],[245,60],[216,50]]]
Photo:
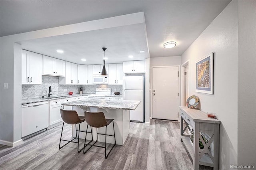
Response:
[[[256,1],[238,1],[238,164],[256,167]]]

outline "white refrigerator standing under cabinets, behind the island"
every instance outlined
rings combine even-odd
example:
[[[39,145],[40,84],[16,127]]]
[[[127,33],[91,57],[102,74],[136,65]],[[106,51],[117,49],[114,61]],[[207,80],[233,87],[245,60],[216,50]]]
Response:
[[[141,101],[134,111],[130,111],[130,121],[145,121],[145,78],[144,76],[125,76],[123,77],[123,97],[124,100]]]

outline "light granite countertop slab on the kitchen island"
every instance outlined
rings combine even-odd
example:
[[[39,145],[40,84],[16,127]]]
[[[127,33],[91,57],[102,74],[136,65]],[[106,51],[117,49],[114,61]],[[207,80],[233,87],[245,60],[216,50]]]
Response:
[[[135,110],[141,101],[138,100],[120,100],[112,101],[106,99],[84,99],[80,101],[72,101],[63,103],[66,106],[78,106],[78,107],[96,107],[102,109],[123,109],[123,110]]]

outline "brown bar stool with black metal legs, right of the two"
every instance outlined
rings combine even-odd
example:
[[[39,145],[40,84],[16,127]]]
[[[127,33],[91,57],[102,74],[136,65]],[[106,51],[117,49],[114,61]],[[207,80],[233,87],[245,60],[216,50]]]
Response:
[[[96,127],[96,131],[97,131],[97,140],[93,143],[93,144],[86,144],[86,140],[84,141],[84,149],[87,145],[90,145],[90,148],[92,146],[97,146],[97,145],[94,145],[96,142],[98,142],[98,134],[102,134],[102,133],[98,133],[98,128],[100,127],[106,127],[106,133],[105,134],[102,134],[102,135],[105,135],[105,147],[104,146],[97,146],[97,147],[100,147],[100,148],[105,148],[105,159],[108,158],[108,155],[110,154],[111,150],[114,148],[114,146],[116,145],[116,136],[115,136],[115,128],[114,128],[114,119],[106,119],[105,118],[105,115],[103,112],[88,112],[88,111],[84,111],[84,118],[85,118],[85,121],[88,125],[90,125],[90,127]],[[114,129],[114,135],[110,135],[110,134],[107,134],[107,127],[110,123],[113,123],[113,129]],[[88,125],[87,125],[87,128],[86,128],[86,131],[88,129]],[[87,133],[86,133],[87,135]],[[86,139],[86,135],[85,135],[85,139]],[[114,139],[115,139],[115,143],[114,143],[114,146],[112,146],[111,150],[108,152],[108,154],[106,155],[106,140],[107,140],[107,136],[114,136]],[[84,154],[90,149],[88,148]]]

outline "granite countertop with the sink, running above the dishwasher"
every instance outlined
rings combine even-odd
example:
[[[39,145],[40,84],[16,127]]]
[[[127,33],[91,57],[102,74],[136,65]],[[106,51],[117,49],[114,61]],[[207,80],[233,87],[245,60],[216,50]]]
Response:
[[[69,97],[78,97],[78,96],[88,96],[92,93],[82,93],[80,94],[73,94],[73,95],[60,95],[60,96],[51,96],[51,97],[40,97],[40,98],[32,98],[32,99],[22,99],[21,104],[29,104],[29,103],[36,103],[36,102],[41,102],[41,101],[51,101],[51,100],[56,100],[56,99],[65,99]]]

